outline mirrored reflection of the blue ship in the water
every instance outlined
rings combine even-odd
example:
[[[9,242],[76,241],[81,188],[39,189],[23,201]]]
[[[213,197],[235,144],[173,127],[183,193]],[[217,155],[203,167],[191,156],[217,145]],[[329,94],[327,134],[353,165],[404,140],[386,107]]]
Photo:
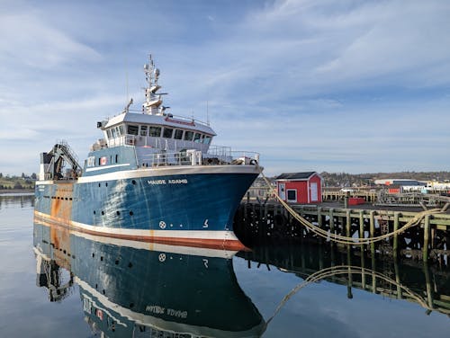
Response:
[[[88,236],[36,222],[34,251],[38,286],[60,301],[76,282],[95,334],[258,337],[266,328],[236,280],[236,252]]]

